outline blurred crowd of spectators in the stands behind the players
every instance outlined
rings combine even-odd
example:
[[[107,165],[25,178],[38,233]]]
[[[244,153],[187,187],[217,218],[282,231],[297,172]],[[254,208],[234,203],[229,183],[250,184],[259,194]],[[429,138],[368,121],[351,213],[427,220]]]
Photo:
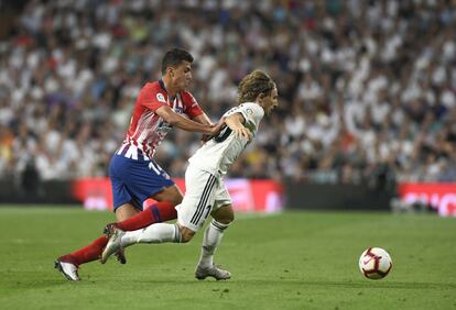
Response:
[[[250,70],[278,82],[231,177],[455,181],[455,0],[32,0],[0,41],[0,178],[106,176],[178,46],[213,121]],[[156,160],[183,176],[198,144],[174,130]]]

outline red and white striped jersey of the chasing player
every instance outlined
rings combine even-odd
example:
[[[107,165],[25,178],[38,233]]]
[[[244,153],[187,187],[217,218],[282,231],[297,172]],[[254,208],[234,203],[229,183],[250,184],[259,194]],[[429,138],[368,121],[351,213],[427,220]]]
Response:
[[[156,147],[172,129],[171,124],[155,113],[163,106],[169,106],[174,112],[186,114],[189,119],[203,114],[198,102],[188,91],[181,91],[170,98],[162,80],[148,82],[138,96],[130,128],[117,154],[132,159],[138,159],[138,156],[143,156],[144,160],[153,157]]]

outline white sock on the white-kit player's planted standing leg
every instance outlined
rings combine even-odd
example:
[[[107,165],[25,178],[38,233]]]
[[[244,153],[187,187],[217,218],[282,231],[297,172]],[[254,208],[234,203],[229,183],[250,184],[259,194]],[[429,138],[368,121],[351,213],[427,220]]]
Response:
[[[199,266],[213,266],[214,253],[216,252],[217,246],[220,244],[221,237],[224,236],[224,231],[228,228],[228,225],[229,224],[222,224],[216,220],[213,220],[206,228],[203,239],[202,255],[199,256]]]

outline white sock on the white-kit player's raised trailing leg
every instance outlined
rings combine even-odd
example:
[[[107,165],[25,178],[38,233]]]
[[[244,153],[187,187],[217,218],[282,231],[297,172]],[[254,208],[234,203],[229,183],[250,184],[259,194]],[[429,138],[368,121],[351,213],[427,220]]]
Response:
[[[177,224],[155,223],[145,229],[126,232],[120,240],[123,247],[134,243],[181,242],[181,231]]]

